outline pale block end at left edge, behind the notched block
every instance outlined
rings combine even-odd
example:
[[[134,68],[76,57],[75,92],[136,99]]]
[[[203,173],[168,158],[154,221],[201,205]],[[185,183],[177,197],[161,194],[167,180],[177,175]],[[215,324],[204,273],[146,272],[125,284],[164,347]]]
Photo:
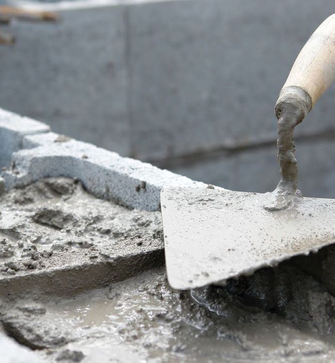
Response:
[[[24,135],[48,132],[49,126],[29,117],[0,109],[0,167],[8,166],[12,153],[22,148]]]

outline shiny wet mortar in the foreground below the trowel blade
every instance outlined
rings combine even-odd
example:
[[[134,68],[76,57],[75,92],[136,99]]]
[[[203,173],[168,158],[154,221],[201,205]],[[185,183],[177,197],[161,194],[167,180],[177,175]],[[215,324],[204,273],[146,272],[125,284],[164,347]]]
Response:
[[[264,284],[267,274],[293,285]],[[47,347],[39,354],[48,362],[330,362],[334,298],[293,266],[252,279],[240,281],[239,292],[232,286],[175,291],[162,267],[72,299],[4,301],[0,317],[18,341]],[[252,303],[250,291],[243,295],[250,286]],[[289,297],[273,314],[262,300],[276,300],[277,288]]]

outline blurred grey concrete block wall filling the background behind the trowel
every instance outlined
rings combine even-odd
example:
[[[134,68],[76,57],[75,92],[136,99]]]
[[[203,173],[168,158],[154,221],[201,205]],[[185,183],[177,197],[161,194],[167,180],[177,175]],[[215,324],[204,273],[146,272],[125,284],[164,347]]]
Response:
[[[15,22],[0,106],[194,179],[267,191],[279,179],[275,101],[334,12],[332,0],[130,1]],[[306,195],[335,197],[334,97],[332,86],[296,132]]]

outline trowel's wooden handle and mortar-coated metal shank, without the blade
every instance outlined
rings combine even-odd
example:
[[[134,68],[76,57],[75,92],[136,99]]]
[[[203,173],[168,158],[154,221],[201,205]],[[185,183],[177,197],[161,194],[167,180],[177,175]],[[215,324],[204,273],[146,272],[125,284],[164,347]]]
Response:
[[[317,28],[301,49],[275,106],[278,119],[278,162],[281,181],[277,190],[294,195],[298,166],[294,128],[314,107],[335,78],[335,14]]]

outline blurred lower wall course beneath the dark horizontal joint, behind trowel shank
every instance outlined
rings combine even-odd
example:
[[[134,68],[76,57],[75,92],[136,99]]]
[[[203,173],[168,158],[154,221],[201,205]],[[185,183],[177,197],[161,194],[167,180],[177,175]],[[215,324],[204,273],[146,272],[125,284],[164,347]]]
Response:
[[[297,142],[298,188],[306,197],[335,198],[335,142]],[[280,179],[276,146],[171,168],[191,179],[246,192],[274,190]]]

